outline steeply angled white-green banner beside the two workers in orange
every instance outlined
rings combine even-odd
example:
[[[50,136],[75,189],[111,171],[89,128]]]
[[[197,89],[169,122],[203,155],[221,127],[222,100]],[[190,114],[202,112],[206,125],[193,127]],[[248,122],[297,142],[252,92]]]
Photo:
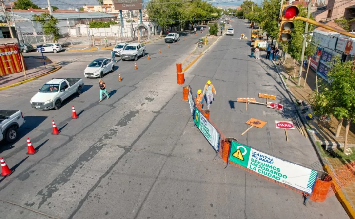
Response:
[[[195,108],[194,122],[197,128],[202,132],[203,136],[207,139],[213,149],[219,151],[219,140],[220,134],[217,132],[216,128],[202,115],[202,113]]]

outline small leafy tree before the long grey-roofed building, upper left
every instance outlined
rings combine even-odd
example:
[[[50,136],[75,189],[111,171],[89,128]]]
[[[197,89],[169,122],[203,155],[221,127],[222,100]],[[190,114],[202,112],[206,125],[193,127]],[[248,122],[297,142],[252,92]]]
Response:
[[[58,19],[49,13],[33,15],[33,21],[39,22],[45,35],[51,35],[53,42],[58,41],[60,37],[59,28],[57,27]]]

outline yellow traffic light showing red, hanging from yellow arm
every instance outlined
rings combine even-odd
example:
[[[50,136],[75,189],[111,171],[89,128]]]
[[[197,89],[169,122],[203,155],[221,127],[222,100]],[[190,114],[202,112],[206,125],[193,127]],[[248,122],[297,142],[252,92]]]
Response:
[[[294,29],[294,19],[299,14],[299,10],[297,6],[286,5],[282,6],[281,18],[279,21],[280,25],[280,33],[278,40],[280,42],[289,42],[291,40],[291,31]]]

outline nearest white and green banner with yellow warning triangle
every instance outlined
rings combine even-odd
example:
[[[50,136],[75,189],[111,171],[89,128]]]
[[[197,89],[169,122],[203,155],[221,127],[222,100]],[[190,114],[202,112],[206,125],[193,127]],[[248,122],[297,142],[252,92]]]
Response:
[[[273,157],[252,147],[232,141],[229,161],[312,194],[317,171]]]

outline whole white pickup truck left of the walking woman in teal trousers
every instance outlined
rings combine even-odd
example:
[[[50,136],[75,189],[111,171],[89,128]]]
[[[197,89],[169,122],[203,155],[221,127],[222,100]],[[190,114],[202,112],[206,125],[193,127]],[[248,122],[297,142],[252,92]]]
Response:
[[[53,78],[31,98],[30,104],[37,110],[58,110],[68,97],[75,93],[80,95],[83,87],[82,78]]]

